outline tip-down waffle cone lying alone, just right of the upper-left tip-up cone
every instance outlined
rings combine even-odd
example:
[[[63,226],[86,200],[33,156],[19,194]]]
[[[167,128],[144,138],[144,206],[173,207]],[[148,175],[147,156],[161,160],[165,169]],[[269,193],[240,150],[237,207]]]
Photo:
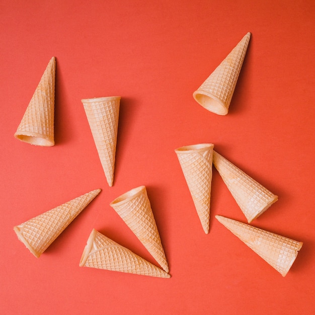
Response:
[[[82,100],[101,164],[113,186],[120,96]]]

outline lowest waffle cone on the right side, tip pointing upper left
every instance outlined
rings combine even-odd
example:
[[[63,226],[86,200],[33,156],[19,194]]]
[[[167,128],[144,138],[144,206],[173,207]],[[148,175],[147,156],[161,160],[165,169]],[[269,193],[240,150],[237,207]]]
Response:
[[[220,215],[215,217],[283,277],[291,268],[303,245],[302,242],[293,241],[249,224]]]

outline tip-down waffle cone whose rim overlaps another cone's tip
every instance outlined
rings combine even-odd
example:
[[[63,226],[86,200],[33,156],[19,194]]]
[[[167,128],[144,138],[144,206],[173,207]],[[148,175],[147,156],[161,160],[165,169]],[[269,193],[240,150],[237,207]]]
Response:
[[[206,234],[209,233],[213,146],[202,143],[175,150]]]

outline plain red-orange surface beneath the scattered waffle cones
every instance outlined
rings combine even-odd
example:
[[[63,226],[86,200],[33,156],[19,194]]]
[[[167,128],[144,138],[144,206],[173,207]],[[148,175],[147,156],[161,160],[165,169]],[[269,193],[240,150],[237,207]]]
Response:
[[[310,0],[3,0],[0,313],[313,314],[314,14]],[[212,113],[193,93],[248,32],[228,113]],[[31,145],[14,134],[53,56],[55,144]],[[109,187],[81,100],[113,96]],[[215,218],[248,223],[215,168],[204,232],[175,152],[198,143],[278,196],[250,224],[303,242],[285,277]],[[80,267],[94,228],[160,267],[110,206],[142,185],[171,277]],[[39,258],[20,242],[14,226],[96,189]]]

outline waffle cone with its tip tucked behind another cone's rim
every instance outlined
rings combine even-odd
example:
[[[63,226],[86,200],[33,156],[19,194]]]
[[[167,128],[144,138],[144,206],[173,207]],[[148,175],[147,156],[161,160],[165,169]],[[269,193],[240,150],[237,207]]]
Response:
[[[215,151],[213,151],[213,165],[249,223],[278,200],[278,196],[257,183]]]

